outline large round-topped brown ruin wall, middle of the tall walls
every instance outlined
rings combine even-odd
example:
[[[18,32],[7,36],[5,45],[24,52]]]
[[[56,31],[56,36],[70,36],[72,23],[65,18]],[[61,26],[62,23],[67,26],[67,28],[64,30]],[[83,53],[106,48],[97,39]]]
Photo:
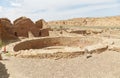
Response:
[[[14,34],[16,36],[28,37],[28,32],[37,37],[39,36],[39,29],[35,26],[31,19],[20,17],[14,21]]]

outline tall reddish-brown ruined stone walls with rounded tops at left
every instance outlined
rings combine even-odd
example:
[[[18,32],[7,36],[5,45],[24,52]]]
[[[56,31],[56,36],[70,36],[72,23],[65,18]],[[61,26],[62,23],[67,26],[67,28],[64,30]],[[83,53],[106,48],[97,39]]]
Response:
[[[20,17],[14,21],[7,18],[0,18],[1,40],[14,40],[18,37],[28,37],[31,32],[34,37],[49,36],[49,28],[44,20],[34,23],[30,18]]]

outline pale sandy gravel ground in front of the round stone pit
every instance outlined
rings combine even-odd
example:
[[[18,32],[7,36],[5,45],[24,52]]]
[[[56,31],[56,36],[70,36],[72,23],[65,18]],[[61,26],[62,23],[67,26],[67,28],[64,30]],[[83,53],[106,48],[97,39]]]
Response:
[[[23,59],[1,61],[9,78],[120,78],[120,53],[107,51],[73,59]],[[0,77],[1,78],[1,77]]]

